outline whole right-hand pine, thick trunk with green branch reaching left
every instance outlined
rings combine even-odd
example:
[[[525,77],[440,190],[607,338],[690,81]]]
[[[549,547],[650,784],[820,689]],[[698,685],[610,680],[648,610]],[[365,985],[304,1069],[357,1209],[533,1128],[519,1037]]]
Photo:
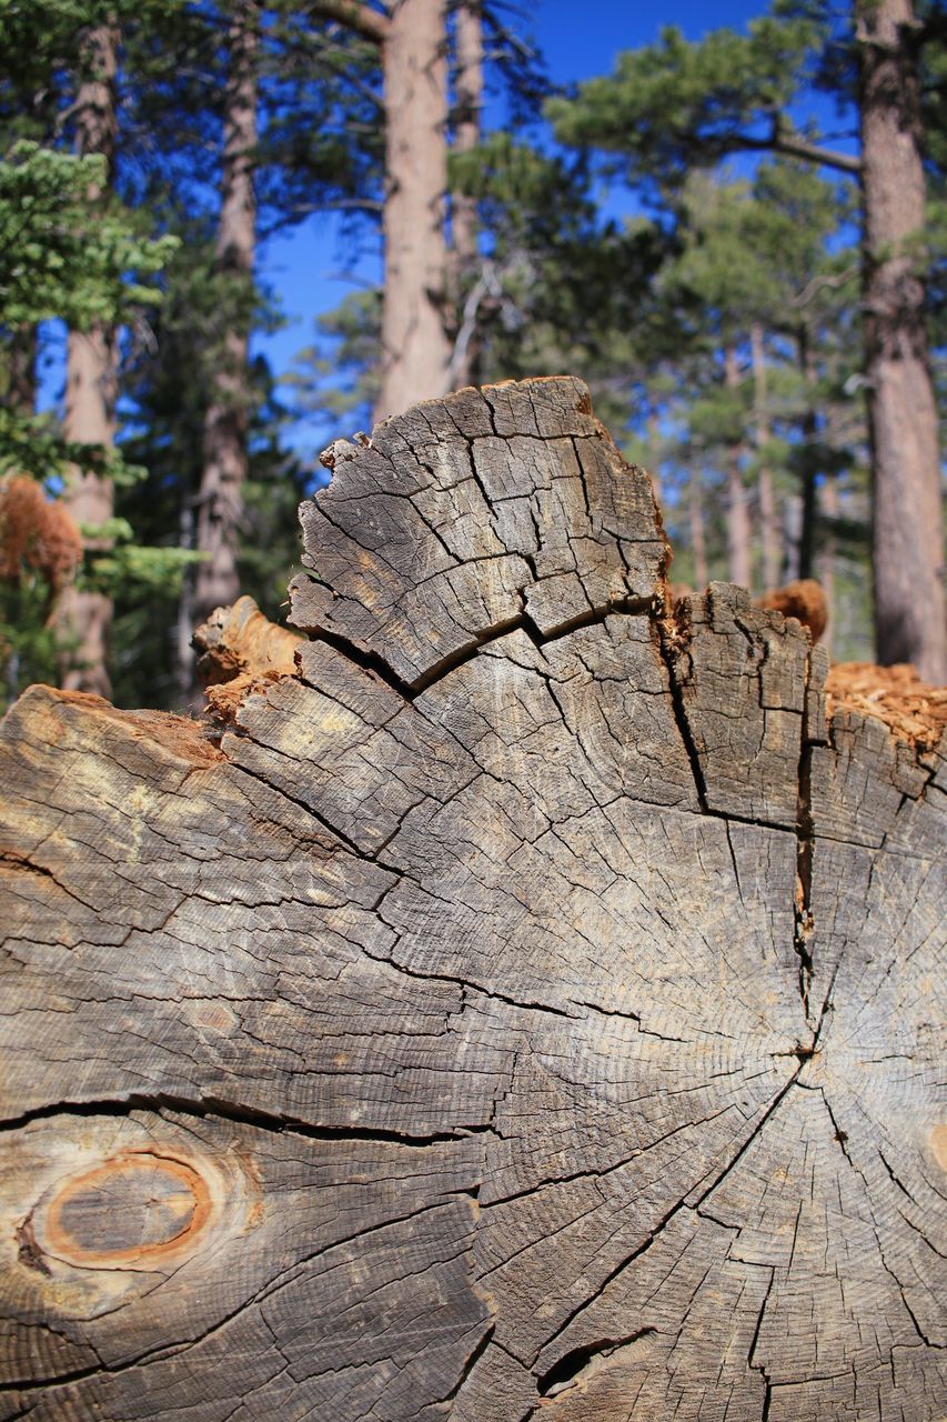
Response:
[[[550,114],[562,141],[620,154],[628,178],[665,188],[738,151],[788,154],[860,179],[879,657],[911,658],[930,680],[944,680],[940,472],[919,267],[924,37],[910,0],[855,0],[845,23],[820,0],[789,0],[742,37],[718,30],[691,44],[665,30]],[[813,58],[825,87],[857,101],[860,156],[823,146],[788,119]]]

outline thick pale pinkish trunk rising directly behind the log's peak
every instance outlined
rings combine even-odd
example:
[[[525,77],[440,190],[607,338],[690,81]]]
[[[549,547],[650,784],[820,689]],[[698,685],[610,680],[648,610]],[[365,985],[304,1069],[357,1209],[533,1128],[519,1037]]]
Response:
[[[444,0],[394,0],[382,63],[385,289],[377,418],[448,388]]]

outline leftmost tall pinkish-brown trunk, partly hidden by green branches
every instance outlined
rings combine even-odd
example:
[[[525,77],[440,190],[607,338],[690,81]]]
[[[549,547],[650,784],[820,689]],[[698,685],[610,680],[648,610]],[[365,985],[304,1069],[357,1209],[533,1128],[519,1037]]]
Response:
[[[75,134],[80,154],[101,154],[111,169],[115,152],[115,65],[118,31],[111,24],[97,26],[82,40],[84,78],[75,104]],[[111,181],[111,172],[109,172]],[[104,193],[88,192],[90,206]],[[118,343],[117,333],[101,323],[87,331],[68,333],[65,370],[65,414],[63,434],[77,444],[98,445],[108,452],[115,444]],[[108,523],[115,512],[111,479],[100,474],[73,469],[63,495],[73,519],[95,529]],[[104,535],[85,538],[88,552],[108,549]],[[102,592],[70,586],[57,609],[63,657],[60,680],[70,691],[111,694],[108,675],[112,600]]]

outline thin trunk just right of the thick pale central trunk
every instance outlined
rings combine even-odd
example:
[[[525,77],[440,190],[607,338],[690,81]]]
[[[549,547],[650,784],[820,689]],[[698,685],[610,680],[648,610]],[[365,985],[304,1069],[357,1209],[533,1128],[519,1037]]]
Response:
[[[483,104],[483,21],[479,0],[465,0],[455,11],[454,44],[456,58],[454,152],[469,154],[481,141]],[[451,235],[454,250],[455,348],[451,356],[451,385],[475,385],[479,371],[476,313],[464,320],[464,292],[472,284],[478,267],[476,199],[451,195]]]

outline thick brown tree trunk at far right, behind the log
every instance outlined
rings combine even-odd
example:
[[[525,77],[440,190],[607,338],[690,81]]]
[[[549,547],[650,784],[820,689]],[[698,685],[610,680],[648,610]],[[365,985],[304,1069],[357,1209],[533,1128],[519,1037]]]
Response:
[[[937,412],[913,245],[924,172],[910,0],[856,0],[879,660],[947,681]]]

